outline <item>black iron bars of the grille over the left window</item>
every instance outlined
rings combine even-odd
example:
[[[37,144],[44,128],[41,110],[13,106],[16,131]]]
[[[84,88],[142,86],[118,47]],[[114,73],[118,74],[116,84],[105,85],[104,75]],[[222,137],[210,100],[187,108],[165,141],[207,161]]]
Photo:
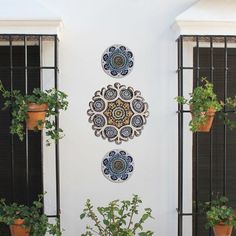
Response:
[[[40,57],[40,64],[39,66],[33,66],[33,69],[38,69],[40,71],[40,87],[42,88],[43,85],[43,72],[47,71],[47,70],[51,70],[54,72],[54,76],[53,76],[53,87],[55,89],[58,89],[58,73],[59,73],[59,68],[58,68],[58,44],[59,44],[59,38],[57,34],[0,34],[0,40],[1,41],[5,41],[7,45],[9,45],[10,47],[10,70],[11,70],[11,76],[10,76],[10,80],[11,80],[11,91],[13,90],[13,86],[12,86],[12,81],[13,81],[13,75],[12,75],[12,71],[15,69],[13,62],[12,62],[12,47],[13,42],[17,42],[17,40],[21,40],[21,42],[23,42],[23,46],[24,46],[24,51],[25,51],[25,55],[27,55],[27,45],[29,45],[29,41],[30,40],[36,40],[38,41],[38,45],[39,45],[39,57]],[[53,64],[50,66],[45,66],[42,62],[42,58],[43,58],[43,42],[45,41],[52,41],[53,42]],[[17,43],[16,43],[17,44]],[[27,57],[25,59],[25,64],[21,67],[22,70],[25,70],[25,92],[27,93],[27,73],[28,70],[32,69],[30,66],[27,65]],[[56,123],[56,128],[58,129],[59,127],[59,116],[55,117],[55,123]],[[27,132],[27,131],[26,131]],[[41,140],[43,140],[43,136],[41,137]],[[28,151],[28,140],[27,140],[27,135],[26,135],[26,141],[25,141],[25,145],[26,145],[26,150]],[[26,151],[26,152],[27,152]],[[42,153],[42,162],[44,162],[43,160],[43,145],[41,147],[41,153]],[[59,142],[57,141],[54,145],[54,165],[55,165],[55,214],[48,214],[48,217],[57,217],[58,219],[60,219],[60,166],[59,166]],[[27,187],[27,204],[29,204],[29,159],[28,159],[28,154],[26,154],[26,187]],[[12,163],[14,164],[14,157],[12,156]],[[42,163],[43,165],[43,163]],[[43,171],[43,168],[42,168]],[[14,175],[13,171],[12,171],[12,175]],[[43,177],[43,173],[42,173],[42,177]],[[43,191],[44,191],[44,181],[42,180],[42,185],[43,185]],[[14,191],[14,190],[13,190]]]

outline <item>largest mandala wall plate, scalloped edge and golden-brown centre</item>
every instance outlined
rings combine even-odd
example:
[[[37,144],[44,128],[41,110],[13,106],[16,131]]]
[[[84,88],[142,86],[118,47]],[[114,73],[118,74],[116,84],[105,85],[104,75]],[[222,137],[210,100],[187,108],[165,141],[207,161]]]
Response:
[[[149,114],[141,93],[119,83],[96,91],[89,107],[95,135],[117,144],[139,136]]]

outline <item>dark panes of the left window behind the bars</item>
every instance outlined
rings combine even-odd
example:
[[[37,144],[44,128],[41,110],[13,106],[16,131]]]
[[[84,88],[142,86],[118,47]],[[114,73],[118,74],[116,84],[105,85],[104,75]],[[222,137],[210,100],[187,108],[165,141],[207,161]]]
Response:
[[[11,88],[12,80],[13,89],[25,93],[26,77],[29,93],[33,88],[40,87],[39,46],[27,47],[27,64],[33,66],[28,70],[25,69],[24,46],[12,46],[12,68],[10,53],[10,46],[0,46],[0,79],[5,88]],[[3,98],[0,96],[2,106]],[[26,139],[21,142],[18,137],[12,137],[10,122],[9,110],[0,110],[0,198],[8,202],[31,204],[43,191],[41,132],[29,131],[26,145]],[[10,235],[8,227],[1,225],[0,235]]]

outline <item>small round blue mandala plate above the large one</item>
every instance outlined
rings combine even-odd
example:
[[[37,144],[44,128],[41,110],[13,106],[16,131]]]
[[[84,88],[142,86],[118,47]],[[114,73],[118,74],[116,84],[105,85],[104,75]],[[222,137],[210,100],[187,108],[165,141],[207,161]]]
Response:
[[[133,66],[133,53],[123,45],[112,45],[102,55],[102,68],[112,77],[121,78],[128,75]]]

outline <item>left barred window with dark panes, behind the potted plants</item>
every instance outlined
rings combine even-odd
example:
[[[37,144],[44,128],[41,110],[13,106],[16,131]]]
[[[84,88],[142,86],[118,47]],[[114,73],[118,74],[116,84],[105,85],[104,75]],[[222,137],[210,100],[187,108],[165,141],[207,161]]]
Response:
[[[8,90],[31,93],[34,88],[57,86],[57,37],[39,35],[0,35],[0,80]],[[0,106],[3,106],[0,97]],[[31,204],[44,192],[43,132],[27,131],[21,142],[10,134],[10,111],[0,111],[0,198],[9,202]],[[53,159],[55,156],[55,159]],[[56,160],[56,192],[59,193],[58,144],[50,158]],[[52,166],[53,167],[53,166]],[[46,183],[45,183],[46,182]],[[57,195],[59,215],[59,194]],[[8,227],[0,226],[0,235],[10,235]]]

